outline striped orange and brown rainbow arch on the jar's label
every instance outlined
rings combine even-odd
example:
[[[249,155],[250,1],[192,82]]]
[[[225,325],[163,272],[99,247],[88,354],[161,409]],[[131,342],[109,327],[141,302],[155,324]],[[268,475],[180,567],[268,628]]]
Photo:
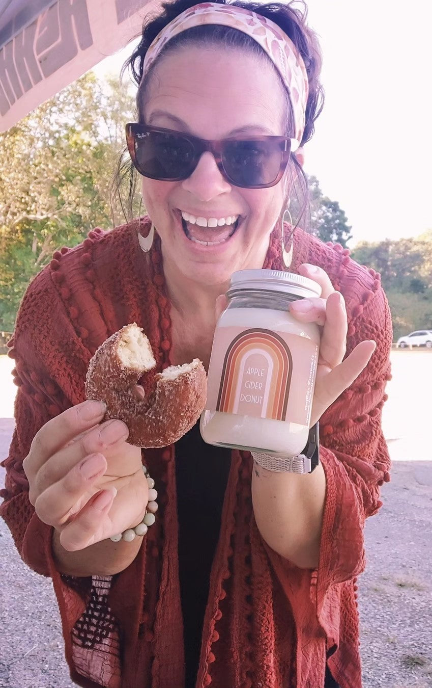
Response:
[[[286,420],[293,359],[282,337],[260,328],[245,330],[229,345],[223,363],[216,411],[238,413],[240,387],[251,354],[261,354],[269,363],[260,417]]]

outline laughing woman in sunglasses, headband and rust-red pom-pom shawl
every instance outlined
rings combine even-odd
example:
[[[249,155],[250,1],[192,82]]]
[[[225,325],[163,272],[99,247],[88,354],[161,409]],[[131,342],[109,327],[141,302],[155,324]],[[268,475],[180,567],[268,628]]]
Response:
[[[1,513],[23,560],[54,581],[78,685],[359,688],[356,577],[389,480],[391,321],[378,275],[282,224],[319,114],[315,36],[289,5],[181,0],[144,27],[130,63],[128,145],[149,218],[56,252],[27,291]],[[159,369],[207,367],[231,273],[263,266],[323,290],[290,305],[322,327],[312,473],[253,468],[197,428],[141,453],[122,422],[101,424],[84,378],[105,338],[135,321]],[[157,519],[114,543],[144,515],[141,462]]]

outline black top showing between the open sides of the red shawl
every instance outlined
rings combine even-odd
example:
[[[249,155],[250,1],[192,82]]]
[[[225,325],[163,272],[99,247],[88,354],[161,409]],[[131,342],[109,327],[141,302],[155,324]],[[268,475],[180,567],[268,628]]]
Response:
[[[196,684],[210,571],[230,465],[231,450],[206,444],[199,423],[176,444],[185,688],[194,688]],[[339,688],[328,668],[324,688]]]

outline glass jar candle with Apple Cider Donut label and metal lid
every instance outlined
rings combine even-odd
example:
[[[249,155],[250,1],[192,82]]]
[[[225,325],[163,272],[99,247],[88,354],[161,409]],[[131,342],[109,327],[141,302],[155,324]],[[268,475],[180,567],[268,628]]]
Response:
[[[288,311],[321,296],[316,282],[282,270],[240,270],[216,323],[201,415],[203,440],[218,447],[297,456],[308,441],[319,327]]]

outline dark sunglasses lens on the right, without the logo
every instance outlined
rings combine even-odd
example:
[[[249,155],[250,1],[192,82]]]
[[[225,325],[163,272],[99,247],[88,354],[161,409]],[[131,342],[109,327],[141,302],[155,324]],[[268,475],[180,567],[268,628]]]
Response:
[[[238,186],[266,186],[280,173],[283,144],[280,141],[232,140],[223,146],[222,162]]]

